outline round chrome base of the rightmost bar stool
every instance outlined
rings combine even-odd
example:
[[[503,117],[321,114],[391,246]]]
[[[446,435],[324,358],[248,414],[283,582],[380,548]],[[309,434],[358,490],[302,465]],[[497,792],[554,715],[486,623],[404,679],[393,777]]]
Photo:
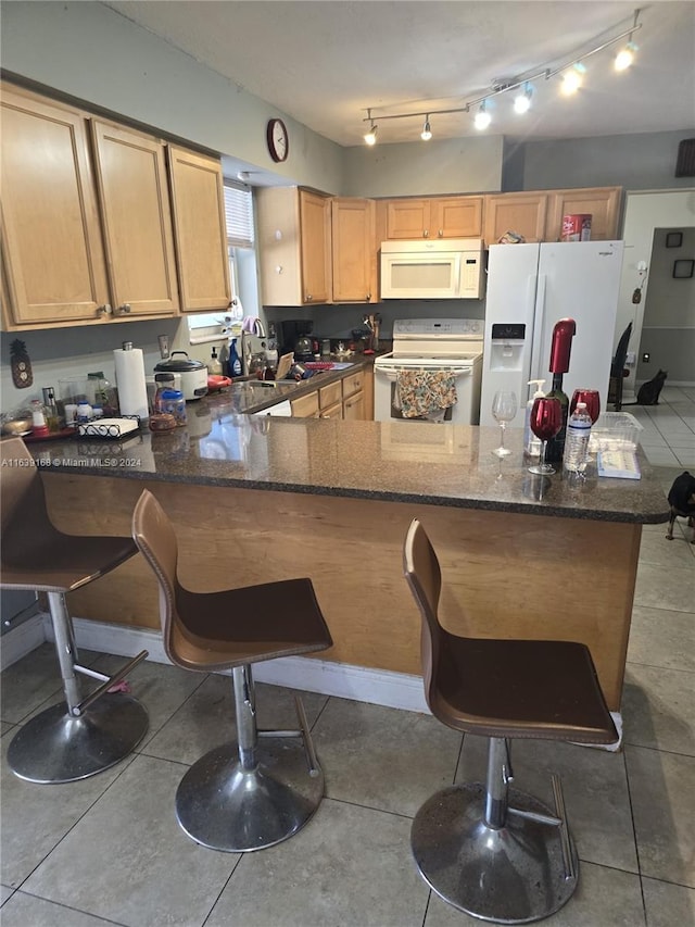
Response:
[[[454,907],[496,924],[528,924],[558,911],[577,888],[567,878],[560,828],[515,815],[554,813],[532,796],[509,789],[506,824],[484,823],[485,788],[437,792],[413,822],[410,844],[420,874]],[[577,850],[570,852],[578,873]]]

